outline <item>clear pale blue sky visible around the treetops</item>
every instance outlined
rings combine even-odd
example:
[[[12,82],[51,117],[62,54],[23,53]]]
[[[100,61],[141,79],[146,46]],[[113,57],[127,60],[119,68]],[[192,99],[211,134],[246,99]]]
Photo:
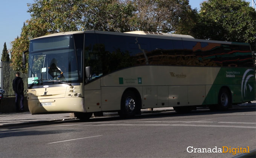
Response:
[[[200,3],[203,1],[189,0],[189,4],[192,9],[200,10]],[[251,6],[252,0],[246,1],[250,2]],[[34,3],[34,0],[0,0],[0,59],[4,43],[6,42],[8,50],[11,49],[11,42],[20,36],[23,23],[30,19],[27,3]]]

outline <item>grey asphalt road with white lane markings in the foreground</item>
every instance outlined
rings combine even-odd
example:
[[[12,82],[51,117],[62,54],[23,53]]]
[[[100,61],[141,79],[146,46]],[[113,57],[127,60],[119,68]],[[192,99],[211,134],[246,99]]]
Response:
[[[200,153],[198,148],[207,152]],[[228,152],[218,153],[219,148]],[[233,148],[239,149],[232,152]],[[226,158],[248,148],[256,149],[255,106],[0,128],[0,157]]]

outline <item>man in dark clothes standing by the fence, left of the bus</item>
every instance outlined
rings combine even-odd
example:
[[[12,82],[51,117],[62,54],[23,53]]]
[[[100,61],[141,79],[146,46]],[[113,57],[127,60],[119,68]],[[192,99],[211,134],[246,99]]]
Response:
[[[15,106],[16,106],[16,111],[24,111],[24,84],[23,84],[23,80],[20,77],[20,73],[17,72],[16,73],[16,77],[15,79],[12,81],[12,89],[15,92]],[[19,100],[20,100],[20,108],[19,108]]]

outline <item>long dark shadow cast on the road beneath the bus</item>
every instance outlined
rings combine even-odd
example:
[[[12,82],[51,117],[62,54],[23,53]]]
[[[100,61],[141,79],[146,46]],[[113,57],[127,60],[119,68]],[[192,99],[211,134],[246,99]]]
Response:
[[[110,116],[104,116],[104,117],[94,117],[89,119],[87,122],[109,122],[109,121],[133,121],[133,120],[137,120],[137,119],[161,119],[161,120],[177,120],[177,119],[183,119],[181,117],[184,117],[184,119],[190,119],[189,116],[193,116],[193,119],[195,119],[194,116],[198,116],[198,118],[202,118],[203,115],[206,115],[207,118],[211,118],[211,117],[229,117],[229,115],[223,116],[223,115],[213,115],[213,114],[239,114],[239,113],[243,113],[243,112],[256,112],[256,106],[233,106],[232,109],[229,109],[227,111],[210,111],[208,108],[197,108],[197,110],[191,111],[189,113],[177,113],[173,110],[161,110],[161,111],[154,111],[154,112],[148,112],[148,111],[144,111],[142,112],[141,115],[136,115],[133,118],[129,118],[129,119],[123,119],[120,118],[119,115],[114,114],[114,115],[110,115]],[[241,114],[242,115],[242,114]],[[248,115],[248,114],[247,114]],[[250,115],[250,114],[249,114]],[[255,114],[251,114],[251,115],[255,115]],[[167,118],[168,117],[168,118]],[[166,118],[166,119],[165,119]],[[205,118],[205,116],[204,116]],[[61,123],[79,123],[79,122],[83,122],[79,119],[67,119],[67,120],[63,120],[63,121],[54,121],[54,122],[37,122],[37,123],[32,123],[32,124],[26,124],[26,125],[17,125],[17,126],[9,126],[9,127],[5,127],[5,129],[18,129],[18,128],[27,128],[27,127],[36,127],[36,126],[44,126],[44,125],[54,125],[54,124],[61,124]],[[114,123],[113,122],[113,123]],[[28,134],[29,135],[29,134]]]

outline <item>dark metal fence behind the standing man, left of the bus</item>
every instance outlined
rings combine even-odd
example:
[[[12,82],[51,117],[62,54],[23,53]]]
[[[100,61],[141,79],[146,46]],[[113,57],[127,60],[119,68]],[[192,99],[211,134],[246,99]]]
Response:
[[[11,66],[11,62],[0,62],[0,85],[3,90],[5,90],[5,97],[15,96],[12,90],[12,81],[15,78],[17,71],[14,71]],[[27,74],[20,72],[20,77],[23,79],[24,83],[24,95],[27,94]]]

